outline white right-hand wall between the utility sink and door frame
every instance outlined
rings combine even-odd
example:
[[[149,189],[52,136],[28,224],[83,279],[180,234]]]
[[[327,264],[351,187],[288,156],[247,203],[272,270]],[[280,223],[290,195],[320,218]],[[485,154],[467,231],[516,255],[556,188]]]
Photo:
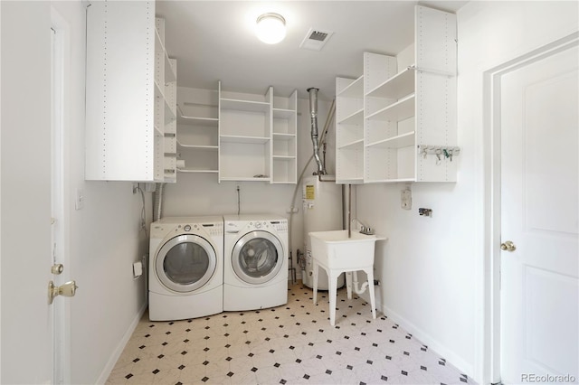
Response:
[[[458,183],[357,187],[357,217],[387,235],[377,243],[379,302],[386,315],[464,373],[483,381],[483,254],[487,149],[483,72],[577,31],[576,2],[470,2],[458,13]],[[430,208],[432,218],[418,215]]]

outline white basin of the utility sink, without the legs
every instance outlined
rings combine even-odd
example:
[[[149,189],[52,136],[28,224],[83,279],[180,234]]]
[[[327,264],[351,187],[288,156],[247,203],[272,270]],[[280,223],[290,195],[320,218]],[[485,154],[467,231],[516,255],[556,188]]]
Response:
[[[376,240],[384,240],[378,235],[366,235],[347,230],[310,232],[312,257],[325,268],[361,270],[374,265]]]

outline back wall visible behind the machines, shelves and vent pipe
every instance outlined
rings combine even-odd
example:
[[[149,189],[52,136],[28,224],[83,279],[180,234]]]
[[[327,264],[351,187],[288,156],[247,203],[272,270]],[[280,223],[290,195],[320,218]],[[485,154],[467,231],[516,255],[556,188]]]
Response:
[[[226,89],[225,85],[222,85]],[[275,91],[275,89],[274,89]],[[283,95],[288,96],[288,95]],[[330,102],[318,100],[318,131],[326,124],[327,111]],[[309,157],[313,154],[310,136],[309,100],[298,99],[298,177]],[[327,135],[327,172],[334,173],[335,162],[335,132],[333,124],[328,128]],[[321,156],[321,151],[320,151]],[[304,176],[311,175],[316,170],[316,162],[312,161]],[[289,218],[289,206],[296,184],[270,184],[265,182],[222,182],[217,183],[216,174],[177,174],[177,183],[167,183],[162,216],[188,215],[223,215],[236,214],[237,186],[241,190],[241,213],[272,213]],[[297,265],[297,250],[303,250],[303,215],[301,205],[301,185],[294,206],[299,212],[292,217],[291,245],[293,265]]]

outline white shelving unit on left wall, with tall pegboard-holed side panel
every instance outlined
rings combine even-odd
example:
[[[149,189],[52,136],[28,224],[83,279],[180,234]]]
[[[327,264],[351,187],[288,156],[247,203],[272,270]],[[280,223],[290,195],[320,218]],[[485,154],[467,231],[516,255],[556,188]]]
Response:
[[[176,182],[176,61],[155,2],[87,8],[86,79],[85,179]]]

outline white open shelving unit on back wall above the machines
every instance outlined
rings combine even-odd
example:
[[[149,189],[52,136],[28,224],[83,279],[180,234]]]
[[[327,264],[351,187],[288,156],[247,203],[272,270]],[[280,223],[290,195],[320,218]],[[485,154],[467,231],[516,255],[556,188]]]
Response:
[[[222,181],[297,182],[298,94],[289,97],[178,90],[177,147],[182,173]]]

